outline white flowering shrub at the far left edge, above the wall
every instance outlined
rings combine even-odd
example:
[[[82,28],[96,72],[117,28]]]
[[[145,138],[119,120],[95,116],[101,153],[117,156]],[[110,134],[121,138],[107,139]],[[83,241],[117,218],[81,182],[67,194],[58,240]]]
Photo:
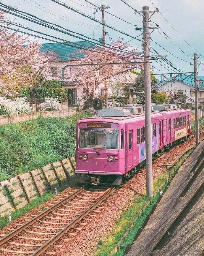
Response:
[[[0,115],[14,116],[17,115],[15,103],[11,99],[0,97]]]

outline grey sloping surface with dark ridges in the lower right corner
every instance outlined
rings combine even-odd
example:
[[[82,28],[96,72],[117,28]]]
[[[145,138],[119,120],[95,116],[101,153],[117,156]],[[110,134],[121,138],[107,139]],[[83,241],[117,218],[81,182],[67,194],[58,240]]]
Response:
[[[187,194],[182,200],[178,199],[192,177],[188,178],[188,174],[191,172],[203,148],[204,141],[197,146],[183,164],[182,172],[176,174],[144,230],[132,245],[128,256],[199,256],[203,252],[204,193],[171,235],[167,244],[160,251],[154,251],[151,254],[158,241],[166,233],[174,219],[183,210],[204,180],[203,169]]]

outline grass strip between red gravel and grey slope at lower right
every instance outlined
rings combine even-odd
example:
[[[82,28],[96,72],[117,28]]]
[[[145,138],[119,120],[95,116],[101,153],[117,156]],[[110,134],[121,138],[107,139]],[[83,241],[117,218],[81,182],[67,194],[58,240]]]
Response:
[[[161,185],[163,185],[166,181],[167,174],[160,176],[156,181],[153,182],[153,191],[157,191]],[[153,198],[150,197],[136,197],[134,199],[134,203],[130,206],[119,218],[119,221],[114,229],[114,232],[108,236],[106,242],[98,241],[98,250],[95,253],[95,256],[108,256],[111,251],[115,248],[116,244],[120,241],[124,233],[127,231],[131,223],[137,218],[138,214],[142,210],[142,208],[147,204],[150,200],[151,203],[147,206],[147,208],[142,212],[139,219],[136,220],[135,226],[132,227],[131,231],[125,238],[125,240],[121,244],[121,249],[119,252],[115,253],[114,256],[122,256],[127,244],[131,244],[137,230],[143,225],[143,222],[146,216],[150,213],[153,205],[156,203],[158,199],[158,195]]]

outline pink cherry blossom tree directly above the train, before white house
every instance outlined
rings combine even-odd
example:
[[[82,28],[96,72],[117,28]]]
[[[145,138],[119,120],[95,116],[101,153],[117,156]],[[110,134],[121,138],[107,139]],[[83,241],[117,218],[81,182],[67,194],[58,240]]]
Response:
[[[71,63],[78,66],[67,67],[64,78],[75,81],[75,84],[79,86],[82,92],[87,91],[87,88],[91,92],[94,91],[94,87],[97,89],[100,85],[103,85],[107,94],[109,81],[125,84],[127,83],[128,76],[131,76],[130,70],[133,67],[136,69],[143,67],[142,63],[126,64],[127,62],[142,61],[137,52],[135,50],[130,51],[130,48],[131,46],[124,42],[124,38],[119,38],[107,48],[96,47],[91,49],[91,51],[77,50],[76,53],[81,53],[83,57],[73,61],[76,58],[76,54],[73,54],[72,58],[68,58]],[[109,63],[123,64],[110,65]],[[80,66],[81,64],[93,65]]]

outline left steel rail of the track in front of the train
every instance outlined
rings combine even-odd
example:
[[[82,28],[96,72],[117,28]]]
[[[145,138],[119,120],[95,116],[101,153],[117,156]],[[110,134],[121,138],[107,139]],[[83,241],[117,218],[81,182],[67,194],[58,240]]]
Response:
[[[61,206],[62,204],[64,204],[66,201],[68,201],[69,199],[71,199],[72,197],[78,195],[79,193],[81,193],[83,190],[85,190],[85,187],[87,187],[87,185],[81,187],[80,189],[78,189],[77,191],[73,192],[71,195],[68,195],[67,197],[65,197],[63,200],[61,200],[60,202],[54,204],[53,206],[49,207],[47,210],[43,211],[42,213],[38,214],[36,217],[34,217],[33,219],[27,221],[25,224],[21,225],[20,227],[18,227],[17,229],[14,229],[12,232],[10,232],[9,234],[7,234],[6,236],[0,238],[0,245],[4,244],[5,242],[7,242],[9,239],[11,239],[12,237],[16,236],[17,234],[19,234],[22,230],[26,229],[27,227],[31,226],[33,223],[35,223],[36,221],[38,221],[39,219],[41,219],[42,217],[46,216],[48,213],[50,213],[51,211],[55,210],[56,208],[58,208],[59,206]]]

